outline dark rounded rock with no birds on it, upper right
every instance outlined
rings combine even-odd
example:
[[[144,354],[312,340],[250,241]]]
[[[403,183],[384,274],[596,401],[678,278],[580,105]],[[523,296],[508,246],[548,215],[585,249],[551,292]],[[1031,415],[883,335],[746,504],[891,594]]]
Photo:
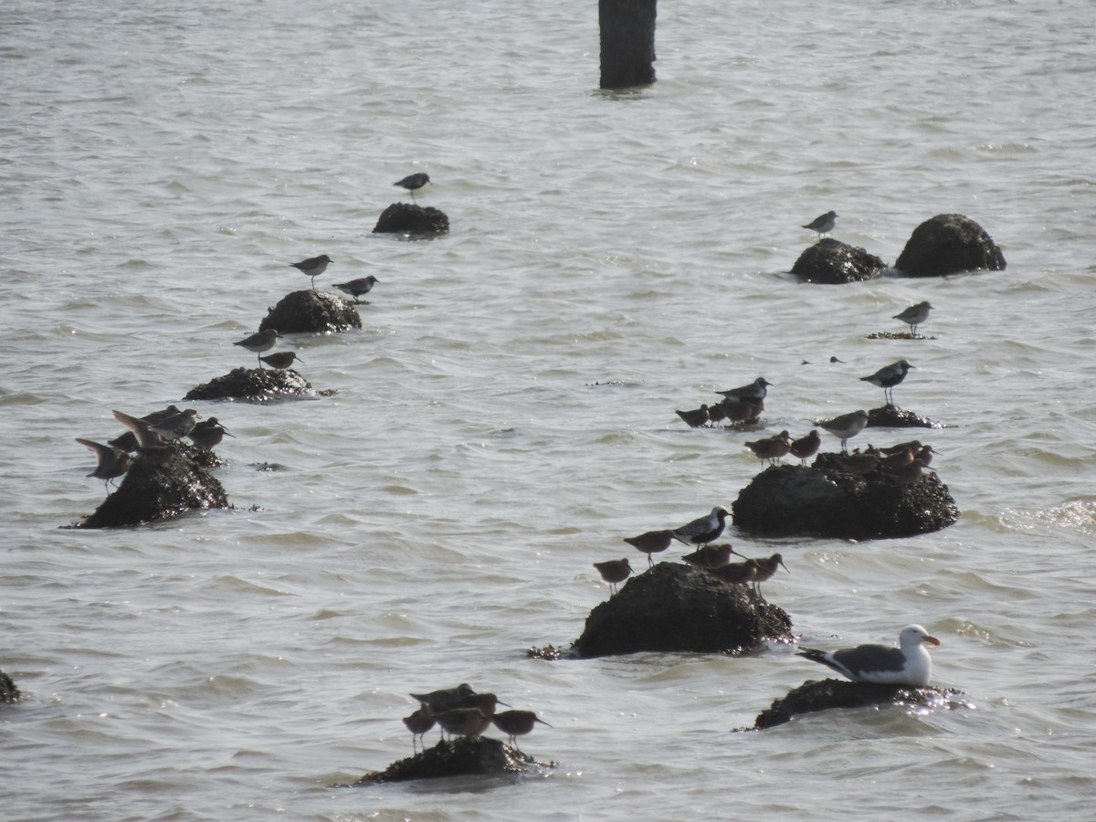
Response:
[[[1005,255],[974,220],[961,214],[938,214],[913,229],[894,267],[910,277],[1004,271]]]

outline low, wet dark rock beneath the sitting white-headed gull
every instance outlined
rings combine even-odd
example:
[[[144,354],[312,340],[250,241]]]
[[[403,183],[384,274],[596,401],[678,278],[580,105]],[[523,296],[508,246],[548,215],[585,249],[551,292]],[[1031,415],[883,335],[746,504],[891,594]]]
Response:
[[[933,687],[907,688],[898,685],[863,685],[845,680],[809,680],[792,688],[783,699],[757,715],[754,728],[764,730],[784,724],[798,713],[830,708],[861,708],[868,705],[917,706],[918,708],[971,708],[959,697],[962,692]]]

